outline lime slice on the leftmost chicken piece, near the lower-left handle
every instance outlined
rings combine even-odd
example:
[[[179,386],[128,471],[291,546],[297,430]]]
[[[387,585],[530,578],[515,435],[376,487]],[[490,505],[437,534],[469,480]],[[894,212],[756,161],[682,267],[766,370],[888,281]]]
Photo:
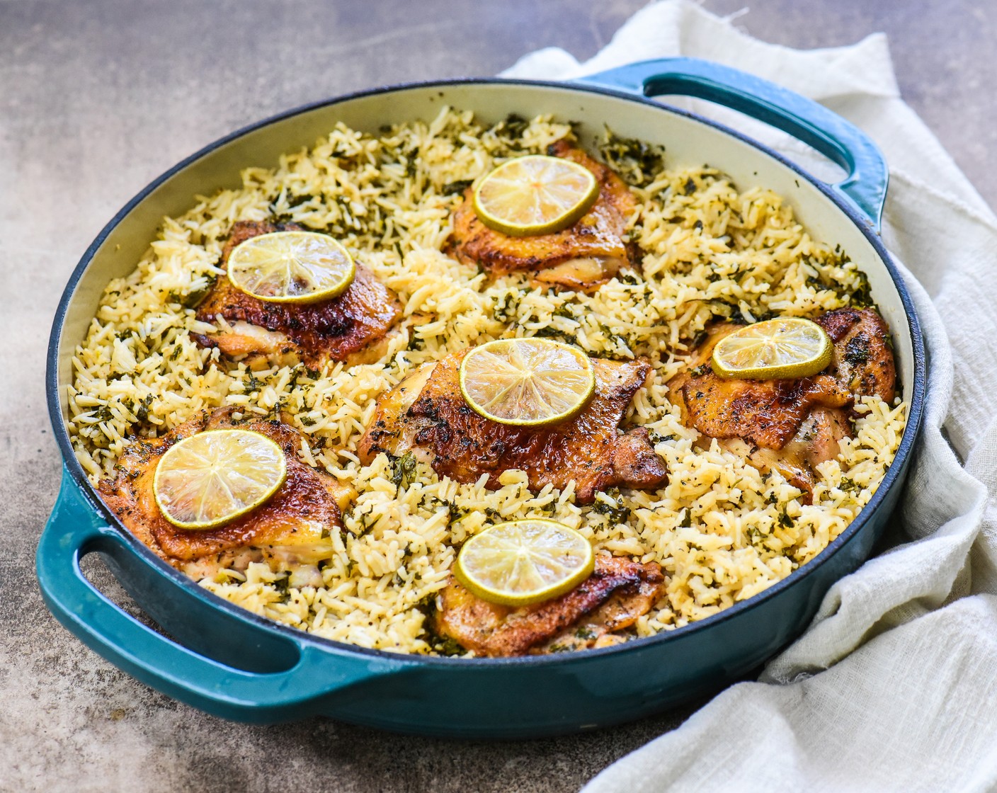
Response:
[[[208,430],[169,447],[153,491],[173,526],[213,529],[259,507],[286,477],[284,453],[265,435]]]

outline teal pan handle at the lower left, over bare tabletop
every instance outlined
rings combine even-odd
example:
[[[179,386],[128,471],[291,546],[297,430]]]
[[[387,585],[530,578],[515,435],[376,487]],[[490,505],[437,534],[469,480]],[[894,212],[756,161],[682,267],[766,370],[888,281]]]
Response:
[[[238,721],[275,722],[321,712],[331,695],[337,700],[344,689],[365,680],[393,674],[404,668],[376,656],[319,648],[307,639],[292,639],[282,631],[283,653],[290,668],[252,672],[220,663],[140,622],[97,590],[80,570],[80,560],[91,552],[135,557],[121,532],[109,527],[81,487],[64,468],[62,489],[42,533],[36,555],[38,583],[46,605],[56,618],[87,646],[109,661],[167,696],[217,716]],[[138,560],[139,564],[145,564]],[[156,576],[162,573],[156,571]],[[204,606],[195,593],[170,588],[177,601],[174,610],[189,607],[191,617]],[[233,629],[241,615],[208,603],[212,617]],[[247,612],[248,617],[248,612]],[[219,626],[214,626],[217,633]],[[260,629],[259,625],[254,625]],[[224,631],[225,625],[220,626]],[[228,638],[226,632],[220,633]],[[304,636],[304,634],[302,634]],[[336,662],[330,663],[330,660]]]

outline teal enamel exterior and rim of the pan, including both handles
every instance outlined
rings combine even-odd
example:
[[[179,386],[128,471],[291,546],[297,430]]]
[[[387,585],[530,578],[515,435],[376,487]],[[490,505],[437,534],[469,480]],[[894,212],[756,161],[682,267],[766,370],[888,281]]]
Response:
[[[679,81],[682,87],[688,89],[708,78],[715,86],[729,89],[717,89],[709,98],[732,106],[737,102],[739,110],[754,107],[751,115],[761,118],[758,108],[762,105],[749,102],[748,92],[756,87],[754,78],[720,67],[707,69],[710,66],[672,60],[667,62],[666,72],[659,72],[665,68],[661,62],[636,64],[587,79],[590,84],[595,80],[601,81],[600,85],[608,83],[608,89],[593,84],[584,90],[653,94],[656,87],[666,85],[665,78],[657,79],[659,74],[675,81],[683,67],[687,71],[681,74],[688,81]],[[551,84],[516,81],[514,85]],[[399,89],[383,91],[392,90]],[[648,715],[713,693],[753,672],[799,635],[831,585],[861,565],[881,536],[900,493],[920,421],[925,367],[909,295],[872,231],[885,190],[885,171],[878,153],[861,133],[841,127],[843,122],[820,106],[770,84],[758,90],[759,102],[764,100],[764,105],[772,108],[767,120],[776,118],[776,126],[790,132],[803,129],[794,124],[827,124],[824,129],[833,131],[828,137],[834,146],[848,153],[841,158],[851,178],[840,189],[844,192],[847,188],[844,195],[849,198],[838,196],[837,203],[863,230],[890,270],[906,307],[914,348],[908,432],[894,464],[858,519],[816,560],[761,595],[668,633],[619,647],[523,658],[437,658],[364,649],[258,617],[199,588],[122,528],[96,497],[73,457],[58,395],[58,342],[77,281],[109,229],[168,179],[170,172],[126,206],[87,251],[55,318],[48,399],[66,467],[59,501],[42,535],[36,560],[39,585],[49,608],[88,646],[148,685],[207,712],[244,721],[271,722],[322,713],[421,734],[504,738],[561,734]],[[689,93],[675,88],[667,91]],[[782,94],[792,100],[787,100],[792,112],[779,112],[785,108],[780,105]],[[737,99],[742,96],[745,98]],[[631,101],[648,102],[636,97]],[[815,108],[828,114],[830,120]],[[787,121],[790,118],[795,120],[793,124]],[[248,131],[235,133],[185,162]],[[807,142],[813,144],[815,138],[827,143],[816,132]],[[782,162],[800,173],[792,164]],[[834,198],[835,191],[801,176]],[[868,178],[874,178],[876,184],[866,189],[863,185]],[[90,584],[79,567],[80,559],[88,553],[101,555],[126,591],[170,638],[126,614]]]

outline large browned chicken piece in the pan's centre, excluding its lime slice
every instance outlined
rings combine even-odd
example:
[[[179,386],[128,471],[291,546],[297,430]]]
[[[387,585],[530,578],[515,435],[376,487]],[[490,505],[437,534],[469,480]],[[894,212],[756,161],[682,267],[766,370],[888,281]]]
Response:
[[[630,400],[650,374],[644,361],[596,359],[595,394],[573,419],[550,427],[499,424],[472,410],[461,394],[461,361],[454,353],[435,367],[420,367],[378,400],[378,409],[358,454],[370,463],[379,453],[424,453],[434,470],[457,482],[488,474],[488,487],[501,487],[503,471],[518,469],[529,487],[575,485],[575,501],[587,504],[597,490],[613,486],[651,488],[667,472],[640,428],[627,434],[619,423]]]

